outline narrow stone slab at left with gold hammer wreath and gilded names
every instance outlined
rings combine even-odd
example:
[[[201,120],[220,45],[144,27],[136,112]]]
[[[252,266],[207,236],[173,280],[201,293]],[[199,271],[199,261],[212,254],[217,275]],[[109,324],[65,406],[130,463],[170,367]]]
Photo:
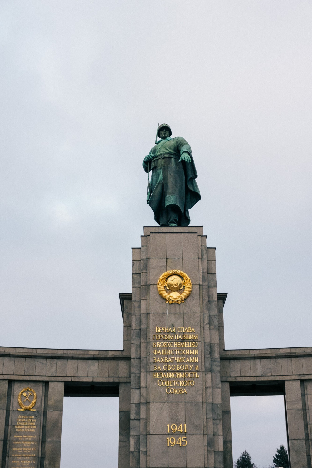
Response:
[[[42,382],[13,382],[6,468],[40,467],[43,388]]]

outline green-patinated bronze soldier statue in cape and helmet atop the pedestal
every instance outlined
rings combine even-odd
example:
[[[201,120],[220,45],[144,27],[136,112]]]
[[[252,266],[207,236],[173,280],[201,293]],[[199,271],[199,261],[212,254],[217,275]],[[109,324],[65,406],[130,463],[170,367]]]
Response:
[[[189,209],[201,198],[197,173],[189,143],[171,135],[168,124],[159,125],[160,140],[143,160],[145,172],[152,170],[146,201],[160,226],[189,226]]]

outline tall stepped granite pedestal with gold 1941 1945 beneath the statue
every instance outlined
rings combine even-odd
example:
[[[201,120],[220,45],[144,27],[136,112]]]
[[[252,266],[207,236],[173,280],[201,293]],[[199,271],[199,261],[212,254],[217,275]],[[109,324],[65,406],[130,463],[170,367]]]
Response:
[[[132,249],[130,466],[223,467],[215,249],[202,227],[145,227]],[[169,270],[192,292],[166,303]]]

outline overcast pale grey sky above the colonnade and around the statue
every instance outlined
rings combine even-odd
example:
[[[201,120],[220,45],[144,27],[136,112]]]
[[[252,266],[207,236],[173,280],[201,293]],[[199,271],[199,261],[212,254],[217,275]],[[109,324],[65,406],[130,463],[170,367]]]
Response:
[[[1,345],[122,347],[167,122],[193,150],[226,348],[311,346],[311,23],[300,0],[2,0]]]

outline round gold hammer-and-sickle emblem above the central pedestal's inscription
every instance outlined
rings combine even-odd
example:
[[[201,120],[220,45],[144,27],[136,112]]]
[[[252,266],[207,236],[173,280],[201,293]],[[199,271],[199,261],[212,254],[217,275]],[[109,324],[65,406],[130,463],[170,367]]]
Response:
[[[181,304],[192,292],[192,283],[184,271],[168,270],[160,276],[157,289],[169,304]]]

